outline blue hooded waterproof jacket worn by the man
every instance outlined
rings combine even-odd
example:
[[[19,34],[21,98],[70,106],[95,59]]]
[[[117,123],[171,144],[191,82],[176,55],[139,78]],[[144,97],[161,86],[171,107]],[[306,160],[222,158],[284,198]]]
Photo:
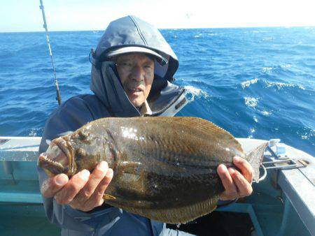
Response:
[[[173,116],[186,105],[184,89],[172,84],[179,61],[165,38],[151,24],[137,17],[123,17],[109,24],[92,53],[90,89],[94,94],[74,96],[52,112],[45,124],[39,153],[45,152],[50,140],[95,119],[140,116],[125,94],[115,64],[106,58],[109,50],[131,45],[154,50],[169,61],[166,66],[155,61],[155,78],[148,96],[153,116]],[[38,176],[41,186],[48,176],[41,168]],[[54,198],[43,198],[43,205],[50,222],[62,227],[62,235],[172,235],[165,224],[116,207],[81,212],[69,205],[59,205]]]

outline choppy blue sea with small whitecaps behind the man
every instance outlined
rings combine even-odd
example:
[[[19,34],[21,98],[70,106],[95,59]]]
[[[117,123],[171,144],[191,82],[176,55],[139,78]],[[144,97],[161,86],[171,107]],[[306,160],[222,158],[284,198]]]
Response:
[[[315,156],[315,28],[162,29],[176,84],[202,117],[239,138],[280,138]],[[62,100],[90,93],[102,31],[50,32]],[[0,34],[0,135],[41,136],[57,108],[44,32]]]

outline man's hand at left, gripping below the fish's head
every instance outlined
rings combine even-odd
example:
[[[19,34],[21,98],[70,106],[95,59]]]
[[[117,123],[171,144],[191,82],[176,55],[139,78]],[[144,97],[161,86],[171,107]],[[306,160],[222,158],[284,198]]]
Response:
[[[60,204],[88,212],[103,204],[104,191],[113,178],[113,170],[106,161],[100,162],[90,174],[82,170],[69,179],[60,174],[46,179],[41,186],[44,198],[52,198]]]

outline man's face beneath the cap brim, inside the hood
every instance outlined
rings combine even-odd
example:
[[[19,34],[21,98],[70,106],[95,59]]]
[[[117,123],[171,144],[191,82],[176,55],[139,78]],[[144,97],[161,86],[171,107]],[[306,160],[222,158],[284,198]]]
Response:
[[[123,54],[116,59],[117,71],[123,88],[139,108],[144,104],[154,78],[154,61],[144,53]]]

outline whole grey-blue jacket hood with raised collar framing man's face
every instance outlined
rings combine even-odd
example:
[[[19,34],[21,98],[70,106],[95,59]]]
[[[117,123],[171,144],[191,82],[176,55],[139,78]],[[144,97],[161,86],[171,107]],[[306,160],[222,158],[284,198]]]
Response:
[[[179,61],[160,31],[137,17],[120,18],[109,24],[99,40],[93,53],[90,83],[90,89],[104,103],[107,110],[120,117],[137,116],[139,111],[129,101],[118,78],[116,66],[106,58],[106,54],[114,48],[134,45],[154,50],[169,61],[165,66],[155,61],[155,78],[148,96],[153,114],[165,110],[183,94],[183,88],[171,83],[179,67]]]

